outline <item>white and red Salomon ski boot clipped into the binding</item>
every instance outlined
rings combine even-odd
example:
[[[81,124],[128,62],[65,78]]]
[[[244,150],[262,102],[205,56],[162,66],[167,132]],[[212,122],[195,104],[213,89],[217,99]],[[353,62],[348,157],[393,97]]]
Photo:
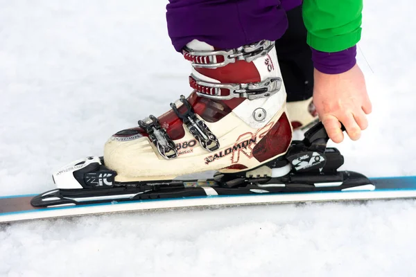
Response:
[[[284,155],[291,145],[293,130],[273,42],[216,51],[194,40],[184,57],[193,66],[191,95],[105,144],[103,160],[116,172],[116,182],[252,170]]]

